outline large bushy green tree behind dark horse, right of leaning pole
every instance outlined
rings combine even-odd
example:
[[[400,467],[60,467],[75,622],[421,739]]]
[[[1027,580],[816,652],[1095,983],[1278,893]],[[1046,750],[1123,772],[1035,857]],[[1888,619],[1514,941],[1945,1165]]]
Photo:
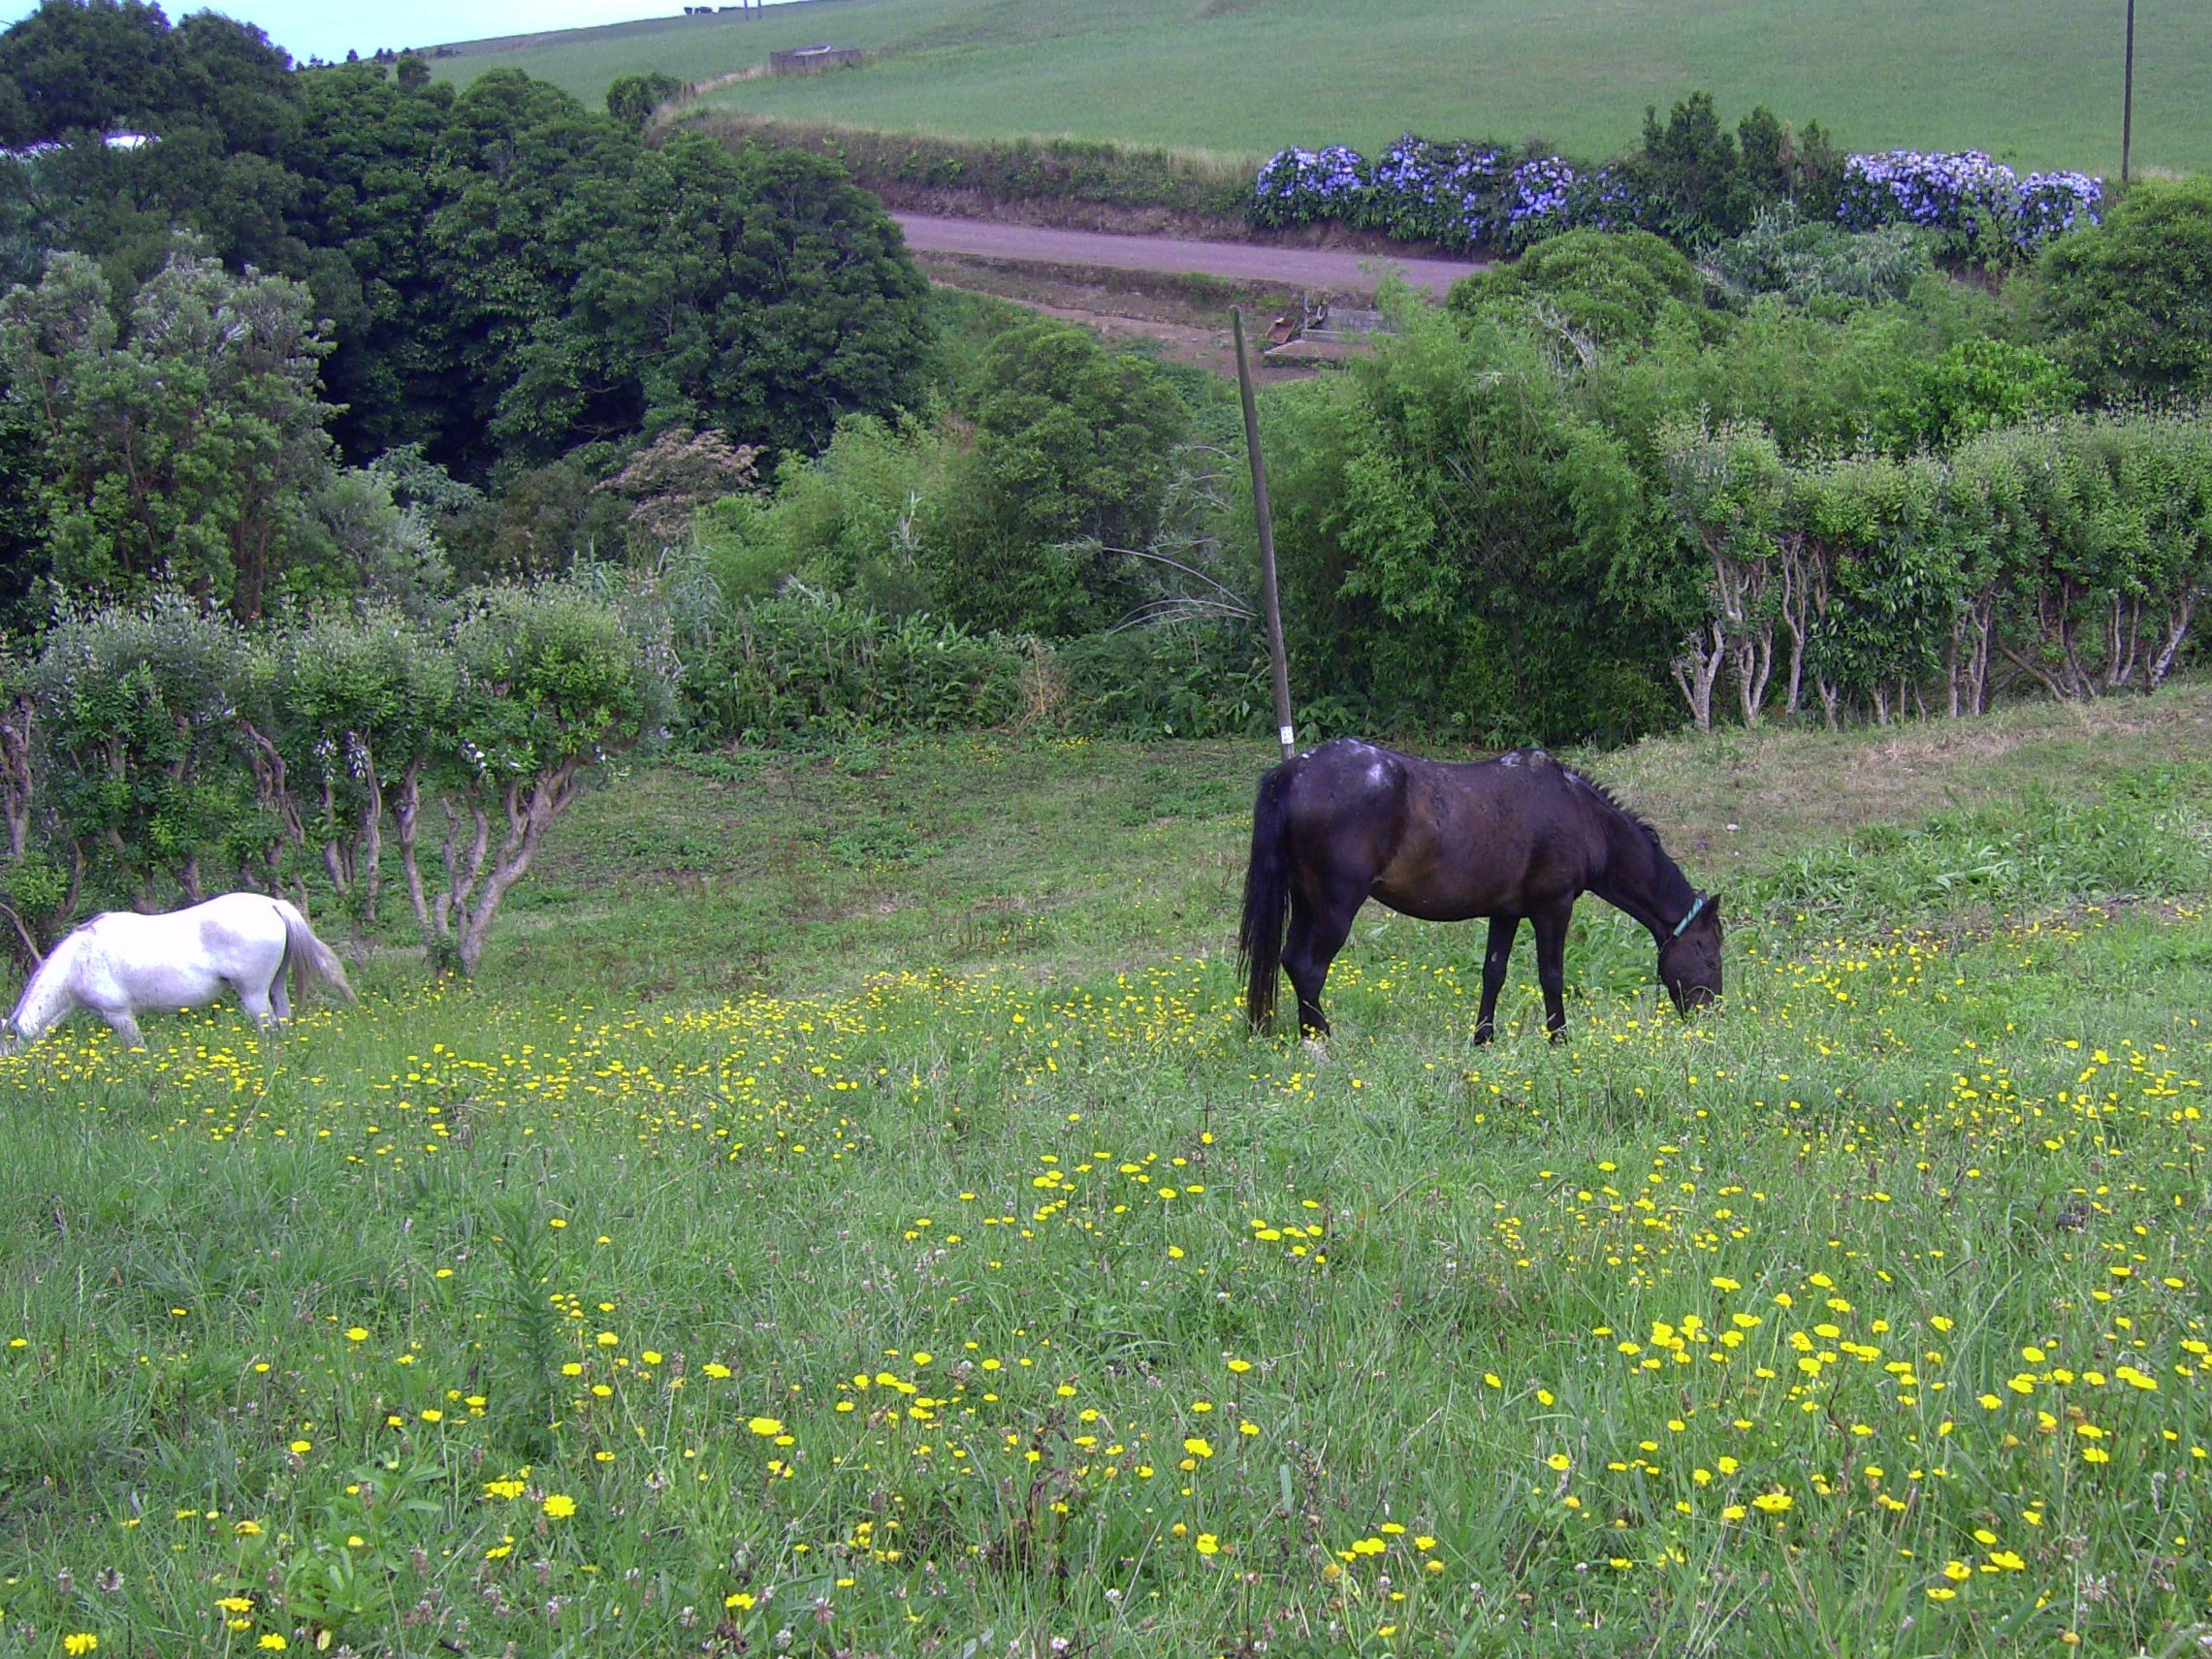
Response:
[[[1332,721],[1484,743],[1670,723],[1708,568],[1526,332],[1407,307],[1349,374],[1283,387],[1267,489],[1285,628]]]

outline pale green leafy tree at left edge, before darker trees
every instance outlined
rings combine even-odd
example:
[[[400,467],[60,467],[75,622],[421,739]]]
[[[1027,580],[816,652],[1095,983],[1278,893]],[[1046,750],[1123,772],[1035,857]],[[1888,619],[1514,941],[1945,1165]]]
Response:
[[[330,476],[316,385],[330,345],[307,292],[179,252],[128,330],[108,305],[82,254],[0,301],[0,363],[42,445],[55,582],[93,597],[168,582],[259,617],[327,553],[310,500]]]

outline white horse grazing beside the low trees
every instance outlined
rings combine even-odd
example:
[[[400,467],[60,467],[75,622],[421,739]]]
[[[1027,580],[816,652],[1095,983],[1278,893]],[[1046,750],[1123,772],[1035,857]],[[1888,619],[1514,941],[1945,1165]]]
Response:
[[[263,1026],[292,1018],[285,969],[354,987],[307,918],[281,898],[223,894],[166,916],[104,911],[55,945],[22,989],[7,1048],[29,1046],[75,1009],[91,1009],[131,1048],[144,1048],[139,1009],[199,1009],[230,987]]]

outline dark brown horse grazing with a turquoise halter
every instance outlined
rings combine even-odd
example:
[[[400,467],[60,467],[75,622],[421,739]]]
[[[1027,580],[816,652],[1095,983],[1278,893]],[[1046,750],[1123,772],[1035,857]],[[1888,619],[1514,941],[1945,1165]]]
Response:
[[[1699,894],[1657,832],[1544,750],[1447,765],[1340,737],[1259,781],[1237,949],[1245,1015],[1274,1020],[1290,969],[1298,1029],[1327,1035],[1321,987],[1360,900],[1429,922],[1491,918],[1475,1042],[1489,1042],[1522,918],[1535,929],[1544,1024],[1566,1029],[1566,922],[1597,894],[1650,929],[1659,978],[1688,1013],[1721,995],[1721,902]],[[1285,938],[1285,918],[1290,933]]]

